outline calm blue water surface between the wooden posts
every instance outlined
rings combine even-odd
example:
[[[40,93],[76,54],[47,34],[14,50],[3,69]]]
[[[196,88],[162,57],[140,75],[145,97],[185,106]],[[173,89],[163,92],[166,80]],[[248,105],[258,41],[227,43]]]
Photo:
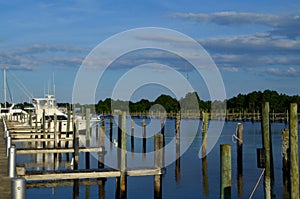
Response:
[[[129,168],[140,168],[153,166],[153,154],[147,153],[143,155],[141,127],[142,119],[135,120],[135,136],[134,152],[131,153],[130,138],[127,139],[127,165]],[[109,120],[105,120],[107,130],[106,135],[109,139]],[[153,151],[154,139],[153,134],[160,130],[160,119],[146,119],[147,122],[147,152]],[[216,125],[222,124],[222,121],[216,121]],[[131,131],[131,120],[127,118],[127,131]],[[176,172],[176,146],[175,138],[175,120],[167,119],[165,123],[165,142],[169,147],[166,152],[168,165],[166,173],[162,176],[162,195],[163,198],[219,198],[220,197],[220,144],[230,144],[232,147],[232,198],[249,198],[261,172],[261,168],[257,168],[256,148],[262,147],[261,124],[260,122],[243,122],[243,176],[238,180],[237,163],[236,163],[236,143],[232,140],[232,135],[236,131],[237,122],[224,122],[222,133],[214,134],[212,139],[216,141],[212,150],[208,153],[206,164],[207,178],[203,177],[202,159],[199,158],[199,150],[201,148],[201,121],[199,120],[181,120],[180,133],[180,169]],[[281,131],[288,126],[284,123],[272,123],[272,142],[273,142],[273,159],[275,172],[274,193],[276,198],[283,198],[284,188],[282,180],[282,155],[281,155]],[[213,124],[210,124],[213,129]],[[94,130],[95,131],[95,130]],[[92,131],[92,135],[93,132]],[[95,133],[95,132],[94,132]],[[213,133],[211,133],[213,134]],[[95,136],[95,135],[94,135]],[[210,137],[211,135],[208,135]],[[98,136],[96,136],[98,137]],[[84,139],[84,136],[81,137]],[[105,162],[109,167],[114,167],[117,148],[109,140],[105,142],[105,148],[108,153],[105,155]],[[114,124],[112,139],[117,139],[117,126]],[[92,139],[92,143],[97,145],[97,140]],[[84,141],[83,141],[84,142]],[[83,144],[82,142],[82,144]],[[186,150],[186,151],[185,151]],[[91,168],[97,168],[97,155],[92,153]],[[47,159],[47,158],[44,158]],[[53,166],[53,157],[48,157],[49,164],[43,164],[44,159],[37,155],[19,155],[18,163],[26,164],[28,170],[63,170],[69,168],[71,158],[62,155],[61,162]],[[85,168],[85,156],[80,153],[79,168]],[[32,163],[33,162],[33,163]],[[46,165],[46,166],[45,166]],[[48,166],[47,166],[48,165]],[[263,180],[263,179],[262,179]],[[90,180],[93,181],[93,180]],[[101,196],[105,198],[115,198],[115,178],[108,178],[105,181],[104,191]],[[42,183],[40,183],[42,184]],[[73,186],[67,183],[63,186],[53,187],[37,187],[34,183],[28,182],[26,190],[27,198],[73,198]],[[45,185],[44,185],[45,186]],[[47,185],[49,186],[49,184]],[[51,185],[50,185],[51,186]],[[100,190],[97,184],[81,185],[79,187],[79,198],[101,198]],[[153,176],[128,177],[127,178],[127,197],[128,198],[153,198]],[[259,183],[253,198],[263,198],[264,189],[263,182]]]

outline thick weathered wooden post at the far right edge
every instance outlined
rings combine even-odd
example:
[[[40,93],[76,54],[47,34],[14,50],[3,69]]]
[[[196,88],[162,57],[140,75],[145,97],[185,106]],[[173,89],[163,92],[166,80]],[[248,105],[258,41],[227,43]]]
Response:
[[[292,199],[299,198],[299,164],[298,164],[298,112],[297,103],[290,104],[290,193]]]

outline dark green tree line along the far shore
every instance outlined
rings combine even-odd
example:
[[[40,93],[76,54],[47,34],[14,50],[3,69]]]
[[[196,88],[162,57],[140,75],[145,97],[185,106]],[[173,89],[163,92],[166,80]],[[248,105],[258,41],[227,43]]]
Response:
[[[197,103],[198,102],[198,106]],[[212,103],[214,104],[226,104],[226,108],[229,112],[253,112],[260,111],[263,102],[270,103],[270,111],[276,113],[284,113],[288,110],[290,103],[300,104],[300,96],[288,96],[286,94],[279,94],[277,91],[265,90],[254,91],[248,94],[238,94],[235,97],[227,99],[225,101],[204,101],[201,100],[196,92],[187,93],[185,97],[177,100],[169,95],[162,94],[154,101],[147,99],[141,99],[137,102],[113,100],[107,98],[105,100],[99,100],[97,104],[84,105],[84,107],[91,108],[94,113],[110,113],[112,108],[118,110],[125,110],[129,112],[148,112],[152,111],[166,111],[168,113],[176,113],[179,111],[210,111]],[[10,104],[7,104],[8,106]],[[58,103],[59,107],[71,108],[69,103]],[[154,106],[155,105],[155,106]],[[4,105],[2,104],[2,107]],[[30,103],[17,104],[18,108],[29,107]],[[76,104],[75,107],[82,107],[83,105]]]

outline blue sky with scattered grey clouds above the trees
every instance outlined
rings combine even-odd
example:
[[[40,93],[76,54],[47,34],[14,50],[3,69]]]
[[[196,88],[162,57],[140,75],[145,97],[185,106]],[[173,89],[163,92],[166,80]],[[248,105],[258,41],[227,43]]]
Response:
[[[221,92],[215,88],[218,83],[214,84],[220,77],[226,98],[266,89],[300,94],[300,2],[296,0],[12,0],[0,2],[0,24],[0,75],[6,68],[16,102],[53,90],[58,102],[71,102],[74,85],[95,84],[93,75],[98,78],[96,90],[91,91],[95,102],[112,96],[132,101],[154,100],[160,94],[180,98],[190,91],[211,100],[212,93]],[[110,60],[99,74],[103,68],[98,65],[110,58],[105,50],[119,52],[132,45],[130,39],[121,41],[116,35],[147,27],[172,30],[195,40],[216,69],[202,67],[199,72],[187,61],[198,59],[195,49],[174,54],[190,46],[176,34],[157,31],[138,35],[133,42],[151,40],[154,47],[169,44],[174,52],[135,49]],[[76,82],[89,55],[112,39],[113,46],[101,49],[97,55],[101,59],[89,69],[91,78]],[[147,79],[148,84],[130,88],[134,82],[128,82],[128,77],[137,77],[132,78],[136,84]],[[123,86],[121,90],[118,85]],[[2,93],[3,81],[0,86]]]

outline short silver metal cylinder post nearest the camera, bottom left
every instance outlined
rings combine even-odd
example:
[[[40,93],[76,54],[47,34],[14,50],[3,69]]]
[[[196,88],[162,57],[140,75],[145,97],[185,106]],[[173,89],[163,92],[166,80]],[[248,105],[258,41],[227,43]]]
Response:
[[[11,199],[26,198],[26,180],[24,178],[11,179]]]

